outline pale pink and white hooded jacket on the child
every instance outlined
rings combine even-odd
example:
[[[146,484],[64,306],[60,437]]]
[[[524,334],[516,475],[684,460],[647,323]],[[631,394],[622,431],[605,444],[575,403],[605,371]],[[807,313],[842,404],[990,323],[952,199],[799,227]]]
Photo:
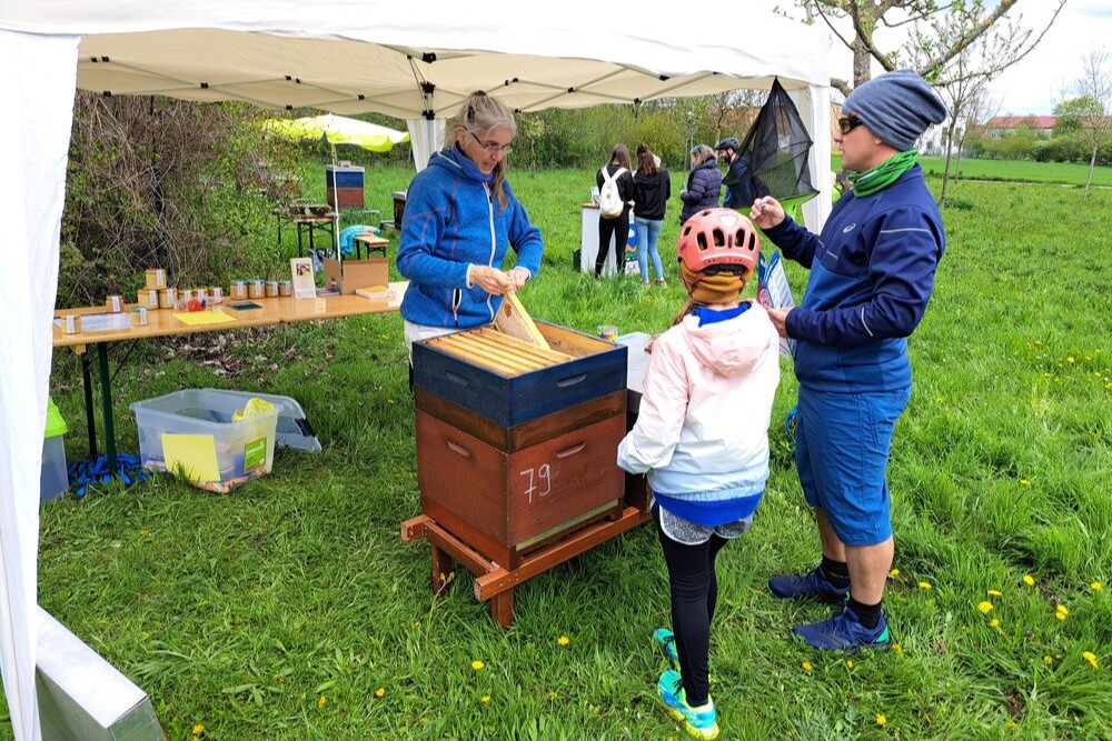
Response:
[[[704,327],[685,317],[654,343],[637,423],[618,447],[618,465],[647,472],[654,491],[733,499],[764,490],[780,337],[751,303]]]

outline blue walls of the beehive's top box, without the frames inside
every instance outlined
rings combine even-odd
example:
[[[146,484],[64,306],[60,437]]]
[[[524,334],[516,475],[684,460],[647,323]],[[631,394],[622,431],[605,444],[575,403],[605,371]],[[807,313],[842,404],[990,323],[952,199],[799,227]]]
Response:
[[[434,338],[413,346],[414,387],[502,427],[516,427],[626,388],[625,347],[556,324],[536,324],[549,347],[572,360],[509,374],[447,352],[438,347],[445,338]]]

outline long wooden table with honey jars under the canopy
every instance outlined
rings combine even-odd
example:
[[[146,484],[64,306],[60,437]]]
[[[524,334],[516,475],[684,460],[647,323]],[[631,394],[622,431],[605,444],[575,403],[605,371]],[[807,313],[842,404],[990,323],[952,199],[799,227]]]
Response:
[[[97,364],[100,374],[101,411],[105,419],[105,452],[108,454],[108,468],[116,471],[116,424],[112,413],[112,374],[108,369],[108,346],[112,342],[141,340],[170,334],[192,334],[195,332],[227,332],[245,327],[265,327],[286,322],[311,321],[315,319],[339,319],[359,314],[387,313],[397,311],[405,296],[407,281],[390,283],[393,299],[365,299],[361,296],[330,296],[317,299],[294,299],[280,297],[272,299],[247,299],[259,304],[259,309],[231,309],[229,303],[237,300],[226,299],[215,309],[235,319],[217,324],[187,324],[177,319],[172,309],[153,309],[147,312],[145,326],[133,324],[129,329],[106,330],[102,332],[76,332],[67,334],[57,323],[53,327],[53,346],[56,348],[73,348],[81,356],[81,375],[85,384],[85,413],[89,428],[89,454],[97,458],[97,428],[93,419],[92,378],[90,359],[87,349],[97,349]],[[136,304],[128,304],[130,310]],[[86,307],[81,309],[57,309],[54,318],[66,314],[99,314],[105,313],[103,307]],[[132,317],[132,319],[136,319]],[[127,357],[123,359],[127,360]],[[123,361],[121,361],[122,364]]]

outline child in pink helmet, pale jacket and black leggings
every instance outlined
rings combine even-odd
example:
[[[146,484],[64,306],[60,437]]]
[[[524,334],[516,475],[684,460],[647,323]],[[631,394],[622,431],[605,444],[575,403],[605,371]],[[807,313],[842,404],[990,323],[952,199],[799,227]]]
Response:
[[[672,668],[657,692],[688,733],[714,739],[707,662],[715,559],[748,530],[768,479],[780,337],[761,304],[739,298],[759,254],[748,219],[728,209],[701,211],[683,226],[676,254],[689,298],[653,344],[618,465],[648,474],[668,570],[672,630],[658,628],[653,637]]]

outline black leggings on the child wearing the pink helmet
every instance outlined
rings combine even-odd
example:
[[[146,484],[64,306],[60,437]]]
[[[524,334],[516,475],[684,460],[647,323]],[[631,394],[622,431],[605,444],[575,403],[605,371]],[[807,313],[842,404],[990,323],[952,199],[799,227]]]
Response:
[[[656,532],[661,537],[664,562],[672,588],[672,630],[676,634],[679,674],[684,678],[687,704],[706,704],[711,693],[707,659],[711,653],[711,623],[718,601],[718,579],[714,560],[729,541],[718,535],[699,545],[684,545],[661,530],[661,507],[653,505]]]

